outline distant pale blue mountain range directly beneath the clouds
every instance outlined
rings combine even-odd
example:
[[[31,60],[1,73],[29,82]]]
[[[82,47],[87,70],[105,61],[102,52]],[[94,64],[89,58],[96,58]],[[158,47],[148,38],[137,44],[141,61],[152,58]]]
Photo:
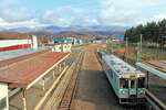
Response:
[[[17,28],[17,29],[3,29],[0,32],[19,32],[19,33],[27,33],[27,32],[38,32],[38,31],[46,31],[50,33],[60,33],[60,32],[96,32],[96,33],[113,33],[113,32],[125,32],[128,29],[127,26],[103,26],[103,25],[93,25],[93,26],[81,26],[81,25],[71,25],[66,28],[62,26],[45,26],[45,28]]]

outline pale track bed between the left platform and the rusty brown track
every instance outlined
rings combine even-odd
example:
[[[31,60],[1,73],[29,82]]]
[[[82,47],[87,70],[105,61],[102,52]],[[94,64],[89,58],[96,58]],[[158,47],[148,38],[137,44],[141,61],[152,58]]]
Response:
[[[75,52],[69,56],[65,63],[63,63],[65,65],[64,68],[55,76],[55,80],[48,90],[46,96],[43,97],[43,100],[38,103],[34,110],[59,110],[81,55],[80,52]]]

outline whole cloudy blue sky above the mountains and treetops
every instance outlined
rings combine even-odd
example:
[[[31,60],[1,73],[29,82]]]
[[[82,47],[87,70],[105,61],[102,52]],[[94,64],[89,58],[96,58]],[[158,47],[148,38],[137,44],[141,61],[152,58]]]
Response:
[[[0,29],[135,26],[166,18],[165,0],[0,0]]]

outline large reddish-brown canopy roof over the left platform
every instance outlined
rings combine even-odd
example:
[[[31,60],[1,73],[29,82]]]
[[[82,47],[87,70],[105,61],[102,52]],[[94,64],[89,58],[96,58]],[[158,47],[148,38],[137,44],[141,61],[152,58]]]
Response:
[[[13,63],[18,58],[18,63],[0,67],[0,82],[9,84],[9,88],[30,88],[32,84],[41,79],[48,70],[56,66],[69,53],[56,53],[44,51],[29,56],[20,56],[17,58],[8,59]],[[25,57],[23,59],[23,57]],[[21,62],[20,62],[21,61]],[[7,62],[7,64],[9,64]],[[0,64],[6,65],[3,61]]]

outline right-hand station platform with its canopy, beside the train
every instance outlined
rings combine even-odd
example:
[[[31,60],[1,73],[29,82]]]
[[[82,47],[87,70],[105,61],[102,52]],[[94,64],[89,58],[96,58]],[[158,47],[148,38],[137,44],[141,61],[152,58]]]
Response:
[[[166,110],[166,61],[136,63],[146,73],[147,100],[157,110]]]

